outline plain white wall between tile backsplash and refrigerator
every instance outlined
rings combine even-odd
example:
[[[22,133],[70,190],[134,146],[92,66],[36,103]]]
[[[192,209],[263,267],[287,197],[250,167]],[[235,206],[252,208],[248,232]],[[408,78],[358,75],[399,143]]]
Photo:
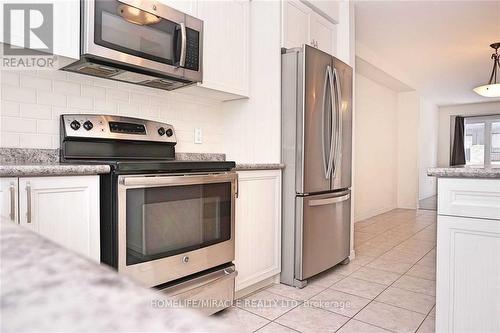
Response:
[[[281,52],[279,1],[250,2],[250,98],[224,102],[229,160],[281,160]]]

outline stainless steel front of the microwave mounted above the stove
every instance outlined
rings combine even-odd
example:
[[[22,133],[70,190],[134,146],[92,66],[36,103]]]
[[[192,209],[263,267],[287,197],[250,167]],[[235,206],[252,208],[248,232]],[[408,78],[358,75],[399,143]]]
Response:
[[[82,5],[84,56],[201,81],[203,21],[157,1],[93,0]]]

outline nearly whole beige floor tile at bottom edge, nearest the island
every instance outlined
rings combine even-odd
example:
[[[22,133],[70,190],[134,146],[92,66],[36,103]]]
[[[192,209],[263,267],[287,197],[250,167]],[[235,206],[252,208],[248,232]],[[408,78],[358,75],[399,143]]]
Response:
[[[384,303],[372,302],[354,318],[395,332],[415,332],[425,315]]]

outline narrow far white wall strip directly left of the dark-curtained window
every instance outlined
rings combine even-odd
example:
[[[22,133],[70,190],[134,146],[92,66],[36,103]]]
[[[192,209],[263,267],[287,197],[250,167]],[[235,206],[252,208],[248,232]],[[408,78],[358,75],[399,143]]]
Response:
[[[419,186],[418,199],[436,195],[437,179],[427,176],[427,169],[437,166],[439,109],[433,103],[420,99],[419,121]]]

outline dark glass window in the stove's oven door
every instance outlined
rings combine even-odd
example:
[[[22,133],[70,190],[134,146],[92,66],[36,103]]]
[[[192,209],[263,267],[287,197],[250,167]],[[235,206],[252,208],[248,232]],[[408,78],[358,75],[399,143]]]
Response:
[[[127,190],[127,265],[231,238],[231,183]]]

